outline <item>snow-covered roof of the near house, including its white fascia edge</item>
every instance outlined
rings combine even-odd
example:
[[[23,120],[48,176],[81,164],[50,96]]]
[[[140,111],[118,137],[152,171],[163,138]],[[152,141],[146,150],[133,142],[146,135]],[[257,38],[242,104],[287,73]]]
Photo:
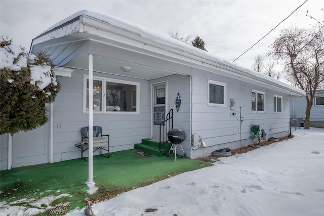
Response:
[[[86,21],[86,17],[92,18],[93,22]],[[77,21],[79,23],[83,23],[83,25],[73,25],[70,27],[70,30],[67,31],[63,29],[66,25],[71,25],[71,22]],[[84,26],[85,23],[87,25],[97,25],[95,26],[97,31],[90,32],[89,29],[86,29]],[[104,25],[105,24],[105,25]],[[103,29],[103,28],[111,28],[111,29]],[[102,28],[102,29],[101,29]],[[63,30],[62,30],[63,29]],[[142,42],[143,44],[147,43],[148,45],[153,45],[158,50],[150,50],[155,53],[159,52],[165,56],[177,56],[176,58],[181,59],[181,63],[183,64],[183,60],[190,62],[189,64],[192,66],[194,64],[195,67],[207,68],[210,71],[218,71],[221,70],[224,73],[235,74],[237,76],[248,77],[252,81],[264,82],[272,85],[273,87],[280,88],[289,92],[292,95],[305,96],[305,92],[303,90],[292,87],[291,85],[278,81],[274,78],[271,78],[262,73],[257,73],[247,69],[245,67],[241,67],[232,62],[226,61],[220,57],[212,55],[206,51],[197,49],[193,46],[187,45],[184,42],[171,38],[167,35],[157,33],[150,29],[144,28],[137,24],[128,22],[126,20],[113,17],[106,14],[91,12],[87,10],[79,11],[64,20],[56,23],[51,26],[41,34],[39,34],[35,39],[33,39],[33,45],[44,42],[45,40],[50,40],[54,38],[58,38],[60,36],[66,36],[73,34],[75,32],[83,32],[88,34],[97,34],[96,36],[102,36],[99,32],[100,30],[109,30],[115,31],[114,33],[129,37],[133,40],[129,40],[133,42],[136,40]],[[120,41],[119,41],[120,42]],[[145,44],[146,45],[146,44]],[[141,47],[142,50],[147,49],[149,46]],[[59,65],[61,66],[61,65]]]

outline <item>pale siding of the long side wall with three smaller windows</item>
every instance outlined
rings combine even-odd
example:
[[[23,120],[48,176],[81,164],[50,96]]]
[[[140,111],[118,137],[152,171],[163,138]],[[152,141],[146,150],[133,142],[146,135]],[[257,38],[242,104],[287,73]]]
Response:
[[[289,95],[213,73],[195,75],[192,78],[192,134],[199,134],[208,147],[203,150],[192,150],[192,158],[210,155],[212,151],[225,147],[232,149],[240,147],[239,107],[244,120],[241,125],[243,146],[253,143],[250,139],[253,124],[260,125],[260,134],[261,129],[265,129],[269,137],[289,134]],[[226,107],[208,106],[208,79],[226,83]],[[252,90],[265,93],[264,113],[252,112]],[[273,95],[282,96],[282,113],[274,113]],[[230,99],[235,100],[235,110],[230,110]],[[235,116],[232,113],[235,113]]]

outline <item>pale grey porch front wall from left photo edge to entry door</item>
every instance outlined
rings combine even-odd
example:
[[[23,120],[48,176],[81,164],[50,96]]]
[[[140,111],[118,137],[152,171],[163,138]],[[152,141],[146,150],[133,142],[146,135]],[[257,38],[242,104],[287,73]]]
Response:
[[[53,162],[80,158],[81,156],[80,149],[75,147],[74,144],[81,141],[80,129],[88,126],[88,114],[83,114],[83,75],[86,73],[87,71],[74,70],[72,77],[59,77],[62,88],[54,102]],[[120,79],[120,77],[104,73],[95,73],[94,75]],[[148,82],[127,77],[122,78],[140,83],[140,114],[94,114],[94,125],[101,126],[103,134],[110,135],[111,152],[132,149],[134,144],[141,142],[141,139],[150,137]],[[61,125],[61,128],[57,128],[58,124]],[[32,142],[33,139],[41,140],[39,142],[43,144],[35,145]],[[0,168],[7,169],[8,135],[1,136],[0,147]],[[28,152],[26,152],[26,149],[28,149]],[[22,152],[25,154],[22,155]],[[98,151],[95,152],[95,154],[98,153]],[[49,162],[48,126],[14,135],[13,167],[47,162]]]

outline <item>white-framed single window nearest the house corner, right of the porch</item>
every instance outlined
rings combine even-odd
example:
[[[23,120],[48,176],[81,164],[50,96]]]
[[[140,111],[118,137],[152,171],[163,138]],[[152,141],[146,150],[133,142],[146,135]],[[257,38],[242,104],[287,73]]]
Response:
[[[208,80],[208,105],[226,106],[226,83]]]

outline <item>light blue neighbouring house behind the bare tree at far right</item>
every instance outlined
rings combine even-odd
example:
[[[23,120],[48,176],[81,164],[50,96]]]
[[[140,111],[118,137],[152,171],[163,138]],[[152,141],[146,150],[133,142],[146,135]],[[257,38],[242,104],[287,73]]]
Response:
[[[307,91],[309,97],[309,91]],[[304,119],[307,101],[305,98],[296,98],[290,102],[290,118]],[[310,110],[309,126],[324,128],[324,89],[317,89]]]

